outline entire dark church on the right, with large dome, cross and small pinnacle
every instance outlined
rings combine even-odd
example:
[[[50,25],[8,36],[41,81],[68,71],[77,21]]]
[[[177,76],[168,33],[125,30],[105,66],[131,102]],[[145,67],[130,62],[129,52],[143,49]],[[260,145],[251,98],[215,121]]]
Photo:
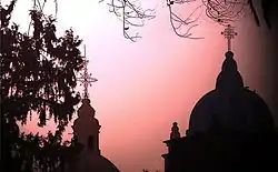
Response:
[[[244,85],[230,50],[234,29],[228,26],[222,34],[228,51],[216,89],[192,109],[185,136],[173,123],[170,140],[165,141],[165,172],[278,170],[278,139],[270,110]]]

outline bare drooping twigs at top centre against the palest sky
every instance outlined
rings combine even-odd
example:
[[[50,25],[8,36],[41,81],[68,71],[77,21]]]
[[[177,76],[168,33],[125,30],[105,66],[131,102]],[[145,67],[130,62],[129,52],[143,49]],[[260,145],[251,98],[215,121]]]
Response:
[[[100,2],[102,1],[100,0]],[[122,21],[123,37],[132,42],[136,42],[141,37],[138,32],[131,33],[131,28],[143,27],[146,20],[156,17],[153,9],[142,9],[138,0],[111,0],[108,6],[110,7],[109,11]]]

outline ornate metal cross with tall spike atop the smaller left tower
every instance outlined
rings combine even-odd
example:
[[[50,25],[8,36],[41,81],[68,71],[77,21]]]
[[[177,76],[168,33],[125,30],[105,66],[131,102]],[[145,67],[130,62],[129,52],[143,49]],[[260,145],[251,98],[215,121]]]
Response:
[[[85,58],[86,58],[86,45],[85,45]],[[89,92],[88,92],[88,87],[91,87],[92,82],[97,82],[98,79],[92,78],[91,73],[88,73],[88,63],[89,60],[85,60],[85,69],[83,69],[83,73],[81,74],[80,78],[78,78],[77,80],[81,82],[80,85],[83,84],[85,89],[83,89],[83,99],[88,99],[89,98]]]

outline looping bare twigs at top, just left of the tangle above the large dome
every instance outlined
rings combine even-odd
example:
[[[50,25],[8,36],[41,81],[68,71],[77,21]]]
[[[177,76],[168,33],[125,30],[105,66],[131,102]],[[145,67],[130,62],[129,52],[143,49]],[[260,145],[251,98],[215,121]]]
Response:
[[[172,6],[176,4],[189,4],[190,2],[193,2],[196,0],[167,0],[167,6],[169,8],[169,16],[170,16],[170,23],[172,27],[173,32],[181,38],[188,38],[188,39],[202,39],[201,37],[192,37],[191,30],[198,26],[197,21],[200,18],[200,14],[198,17],[195,17],[196,12],[203,6],[198,6],[187,18],[181,18],[172,10]]]

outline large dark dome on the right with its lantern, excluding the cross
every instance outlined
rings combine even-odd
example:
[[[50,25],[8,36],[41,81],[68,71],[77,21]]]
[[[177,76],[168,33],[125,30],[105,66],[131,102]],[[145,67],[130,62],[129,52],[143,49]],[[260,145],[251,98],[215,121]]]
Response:
[[[268,105],[255,91],[244,87],[232,52],[227,52],[216,89],[205,94],[195,105],[188,132],[260,132],[272,129],[274,121]]]

